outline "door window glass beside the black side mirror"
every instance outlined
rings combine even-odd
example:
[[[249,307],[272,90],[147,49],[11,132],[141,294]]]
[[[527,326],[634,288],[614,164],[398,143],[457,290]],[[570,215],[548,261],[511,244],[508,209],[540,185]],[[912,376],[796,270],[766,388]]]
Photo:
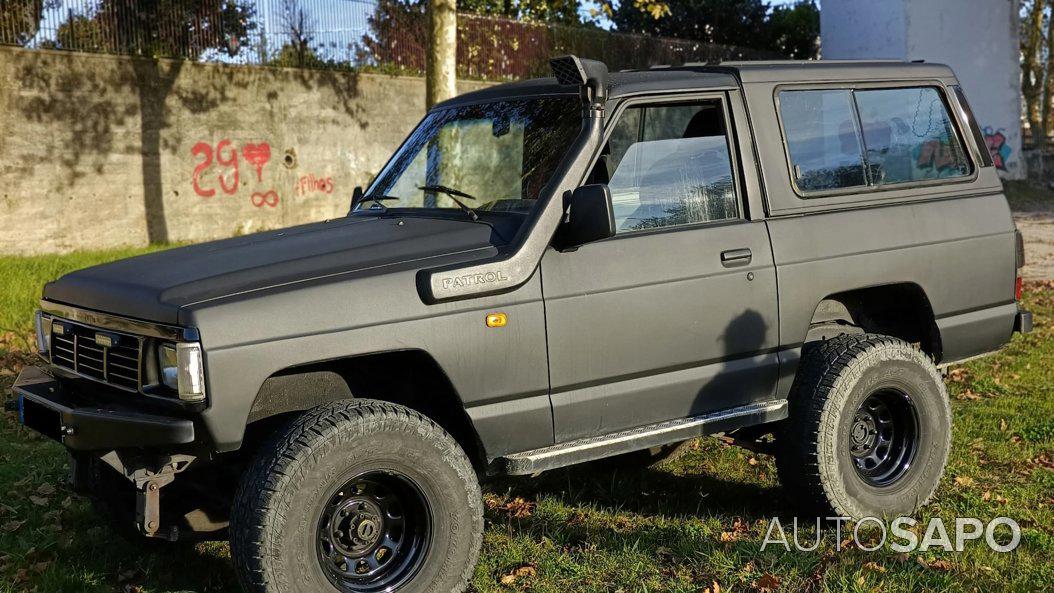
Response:
[[[601,163],[619,234],[739,217],[720,101],[626,110]]]

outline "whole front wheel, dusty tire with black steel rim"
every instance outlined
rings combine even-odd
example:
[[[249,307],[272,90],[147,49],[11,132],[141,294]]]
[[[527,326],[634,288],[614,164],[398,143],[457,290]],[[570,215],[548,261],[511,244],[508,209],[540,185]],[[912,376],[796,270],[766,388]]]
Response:
[[[369,400],[290,424],[247,471],[231,518],[253,593],[460,592],[482,538],[461,447],[416,412]]]

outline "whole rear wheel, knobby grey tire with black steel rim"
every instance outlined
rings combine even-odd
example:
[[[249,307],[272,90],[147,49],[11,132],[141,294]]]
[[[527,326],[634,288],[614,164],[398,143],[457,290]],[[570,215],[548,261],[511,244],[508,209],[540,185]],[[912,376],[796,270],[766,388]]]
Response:
[[[937,488],[952,413],[930,358],[903,340],[842,335],[806,344],[777,442],[777,469],[806,510],[911,514]]]

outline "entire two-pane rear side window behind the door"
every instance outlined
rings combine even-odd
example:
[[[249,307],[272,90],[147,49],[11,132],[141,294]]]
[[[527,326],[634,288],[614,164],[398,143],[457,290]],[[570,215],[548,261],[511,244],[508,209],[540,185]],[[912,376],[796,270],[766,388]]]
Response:
[[[964,177],[971,163],[933,86],[783,91],[780,118],[802,192]]]

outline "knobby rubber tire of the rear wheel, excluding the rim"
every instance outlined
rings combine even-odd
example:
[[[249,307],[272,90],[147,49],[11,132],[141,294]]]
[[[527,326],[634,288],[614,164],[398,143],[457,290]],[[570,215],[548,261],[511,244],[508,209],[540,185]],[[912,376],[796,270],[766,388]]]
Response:
[[[858,407],[878,390],[901,390],[917,411],[918,447],[896,481],[867,483],[851,457]],[[952,412],[933,361],[907,342],[875,334],[807,343],[778,433],[776,467],[788,497],[819,516],[909,515],[925,505],[944,471]]]

